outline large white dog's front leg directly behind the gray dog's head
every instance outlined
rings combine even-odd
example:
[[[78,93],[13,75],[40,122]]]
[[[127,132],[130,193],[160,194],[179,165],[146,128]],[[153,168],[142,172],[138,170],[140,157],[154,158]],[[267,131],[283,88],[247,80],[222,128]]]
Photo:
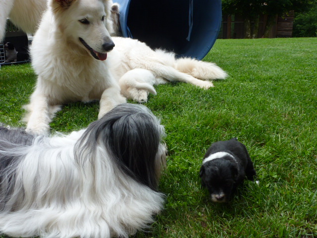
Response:
[[[120,88],[118,85],[107,88],[100,99],[98,119],[101,119],[115,106],[125,102],[126,99],[120,94]]]

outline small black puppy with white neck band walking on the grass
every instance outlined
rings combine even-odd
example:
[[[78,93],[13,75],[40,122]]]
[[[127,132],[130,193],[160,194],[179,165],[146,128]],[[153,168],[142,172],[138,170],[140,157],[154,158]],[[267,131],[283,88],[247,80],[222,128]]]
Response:
[[[245,178],[254,180],[256,172],[245,145],[233,138],[209,147],[200,177],[211,194],[211,201],[227,202]]]

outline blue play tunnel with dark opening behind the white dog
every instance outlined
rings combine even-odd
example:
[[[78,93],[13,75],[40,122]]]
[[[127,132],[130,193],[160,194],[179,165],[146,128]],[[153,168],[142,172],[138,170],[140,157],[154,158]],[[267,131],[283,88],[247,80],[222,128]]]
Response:
[[[124,37],[203,59],[217,39],[221,0],[114,0]]]

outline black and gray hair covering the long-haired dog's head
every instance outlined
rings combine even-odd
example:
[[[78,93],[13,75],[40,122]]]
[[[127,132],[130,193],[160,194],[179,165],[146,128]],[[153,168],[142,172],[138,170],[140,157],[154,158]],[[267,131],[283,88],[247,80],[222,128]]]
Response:
[[[101,139],[122,171],[155,190],[159,175],[154,162],[163,133],[163,126],[149,109],[120,104],[91,123],[76,148],[89,147],[92,153]]]

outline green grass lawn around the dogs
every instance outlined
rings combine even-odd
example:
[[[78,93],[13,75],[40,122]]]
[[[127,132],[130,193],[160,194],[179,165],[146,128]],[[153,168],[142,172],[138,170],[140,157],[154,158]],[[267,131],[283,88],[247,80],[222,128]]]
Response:
[[[137,238],[317,237],[317,38],[217,40],[204,59],[229,77],[203,90],[156,87],[145,104],[165,125],[164,211]],[[24,125],[21,107],[36,82],[30,64],[0,68],[0,122]],[[51,123],[70,132],[97,119],[98,103],[66,105]],[[228,204],[200,185],[212,142],[238,137],[260,184],[246,182]]]

